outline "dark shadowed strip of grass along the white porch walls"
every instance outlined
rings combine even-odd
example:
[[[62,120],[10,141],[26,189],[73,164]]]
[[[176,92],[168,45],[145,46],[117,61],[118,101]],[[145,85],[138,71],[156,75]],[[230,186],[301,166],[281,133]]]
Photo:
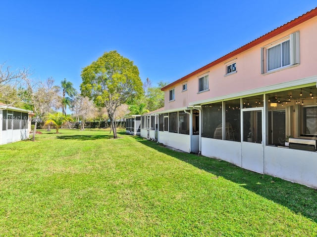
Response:
[[[199,169],[221,176],[241,187],[265,197],[273,202],[287,207],[295,213],[313,220],[317,223],[317,190],[304,185],[262,175],[250,170],[235,166],[226,161],[198,156],[195,154],[175,152],[161,144],[136,138],[145,146],[187,162]]]

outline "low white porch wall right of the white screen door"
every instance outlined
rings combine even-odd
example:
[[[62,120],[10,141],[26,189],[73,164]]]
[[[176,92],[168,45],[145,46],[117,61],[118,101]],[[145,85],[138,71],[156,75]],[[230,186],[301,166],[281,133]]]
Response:
[[[317,188],[316,152],[266,146],[265,173]]]

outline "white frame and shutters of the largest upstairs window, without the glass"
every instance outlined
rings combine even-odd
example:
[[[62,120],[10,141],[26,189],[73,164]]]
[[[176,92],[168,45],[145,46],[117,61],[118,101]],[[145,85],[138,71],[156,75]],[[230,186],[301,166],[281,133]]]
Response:
[[[289,40],[289,45],[290,45],[290,51],[289,51],[290,64],[282,66],[282,63],[281,63],[280,67],[268,70],[268,56],[267,56],[268,49],[276,47],[277,45],[282,45],[282,43],[284,43],[288,40]],[[261,48],[261,74],[265,75],[265,74],[277,72],[280,70],[284,70],[284,69],[299,65],[299,63],[300,63],[300,49],[299,49],[299,47],[300,47],[299,31],[294,32],[287,37],[284,37],[280,40],[274,41],[274,42],[262,47]],[[281,55],[281,62],[282,62],[282,51],[280,52],[280,55]]]

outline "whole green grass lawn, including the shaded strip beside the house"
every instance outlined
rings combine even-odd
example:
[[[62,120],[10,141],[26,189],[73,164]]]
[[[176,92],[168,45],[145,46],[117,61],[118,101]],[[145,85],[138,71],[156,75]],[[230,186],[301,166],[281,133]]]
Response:
[[[1,237],[317,236],[317,190],[122,132],[42,132],[0,146]]]

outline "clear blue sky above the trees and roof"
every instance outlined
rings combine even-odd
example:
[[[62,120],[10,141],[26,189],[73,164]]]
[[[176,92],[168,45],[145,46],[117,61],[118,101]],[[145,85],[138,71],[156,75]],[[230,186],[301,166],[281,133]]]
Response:
[[[105,51],[134,61],[152,85],[172,82],[317,6],[317,0],[2,0],[0,64],[66,78]]]

